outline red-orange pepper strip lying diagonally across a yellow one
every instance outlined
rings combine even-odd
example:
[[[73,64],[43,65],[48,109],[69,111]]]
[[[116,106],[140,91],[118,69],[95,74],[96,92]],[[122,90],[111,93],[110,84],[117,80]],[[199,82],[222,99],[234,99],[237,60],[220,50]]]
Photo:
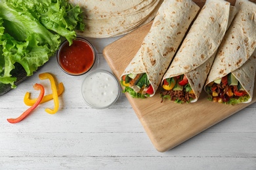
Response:
[[[41,92],[39,93],[39,96],[37,97],[37,100],[35,101],[35,103],[32,105],[32,107],[30,107],[25,112],[23,112],[20,116],[18,116],[18,118],[8,118],[7,121],[9,123],[16,124],[16,123],[22,121],[24,118],[26,118],[26,116],[28,116],[28,114],[30,114],[40,104],[40,102],[43,99],[43,95],[45,95],[45,88],[43,88],[43,86],[41,84],[35,84],[33,86],[33,88],[35,90],[41,90]]]

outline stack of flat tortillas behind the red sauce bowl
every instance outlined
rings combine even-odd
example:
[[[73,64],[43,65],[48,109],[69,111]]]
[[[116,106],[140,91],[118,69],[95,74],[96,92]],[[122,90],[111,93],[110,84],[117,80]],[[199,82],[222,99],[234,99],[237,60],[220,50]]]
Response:
[[[150,22],[163,0],[70,0],[83,10],[83,37],[116,37]]]

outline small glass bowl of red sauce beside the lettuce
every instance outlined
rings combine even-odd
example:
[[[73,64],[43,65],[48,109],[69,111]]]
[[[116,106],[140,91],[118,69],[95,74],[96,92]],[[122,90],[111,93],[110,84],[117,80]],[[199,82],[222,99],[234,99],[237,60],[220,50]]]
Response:
[[[87,73],[96,60],[95,48],[82,37],[74,39],[71,45],[68,41],[62,42],[56,56],[60,69],[74,76]]]

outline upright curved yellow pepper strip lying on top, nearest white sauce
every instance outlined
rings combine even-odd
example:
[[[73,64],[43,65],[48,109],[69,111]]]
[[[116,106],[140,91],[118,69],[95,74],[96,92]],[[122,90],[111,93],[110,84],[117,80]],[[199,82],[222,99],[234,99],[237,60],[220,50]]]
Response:
[[[57,93],[57,88],[56,88],[54,78],[50,73],[41,73],[39,75],[39,78],[41,80],[48,78],[51,82],[51,89],[53,91],[54,109],[47,108],[45,109],[45,111],[48,112],[49,114],[55,114],[58,111],[59,103],[58,103],[58,93]]]

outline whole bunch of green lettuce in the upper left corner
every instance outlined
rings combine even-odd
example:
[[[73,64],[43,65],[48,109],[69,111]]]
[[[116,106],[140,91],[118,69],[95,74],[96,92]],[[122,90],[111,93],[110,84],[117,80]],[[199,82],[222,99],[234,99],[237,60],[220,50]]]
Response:
[[[84,27],[81,13],[66,0],[1,1],[0,83],[15,88],[16,63],[31,76],[58,50],[61,37],[72,44],[75,29]]]

